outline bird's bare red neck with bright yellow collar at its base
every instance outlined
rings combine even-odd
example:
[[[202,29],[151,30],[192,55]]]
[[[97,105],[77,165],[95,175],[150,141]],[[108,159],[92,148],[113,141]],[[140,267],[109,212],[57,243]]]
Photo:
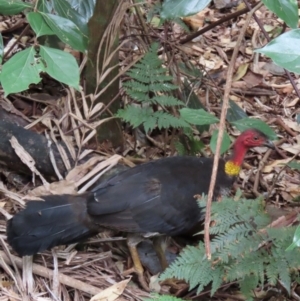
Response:
[[[225,163],[225,173],[229,176],[238,176],[244,161],[247,149],[236,141],[233,146],[233,153]]]

